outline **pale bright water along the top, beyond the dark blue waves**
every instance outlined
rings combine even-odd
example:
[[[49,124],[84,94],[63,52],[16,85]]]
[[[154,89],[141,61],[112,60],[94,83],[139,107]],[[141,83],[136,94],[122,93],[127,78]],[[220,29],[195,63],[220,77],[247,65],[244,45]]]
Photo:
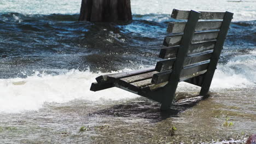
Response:
[[[0,1],[0,13],[78,14],[81,0],[6,0]],[[234,21],[256,20],[256,1],[228,2],[224,0],[131,0],[133,14],[171,14],[172,9],[216,10],[235,13]]]

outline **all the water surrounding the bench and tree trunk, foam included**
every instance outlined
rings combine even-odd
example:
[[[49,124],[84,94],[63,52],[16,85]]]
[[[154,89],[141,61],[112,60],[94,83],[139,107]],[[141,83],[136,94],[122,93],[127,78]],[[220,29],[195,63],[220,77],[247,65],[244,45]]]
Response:
[[[92,23],[77,21],[80,0],[0,1],[0,143],[243,143],[256,133],[256,3],[131,5],[131,23]],[[235,13],[208,97],[181,82],[160,112],[118,88],[89,91],[99,75],[154,66],[173,8]]]

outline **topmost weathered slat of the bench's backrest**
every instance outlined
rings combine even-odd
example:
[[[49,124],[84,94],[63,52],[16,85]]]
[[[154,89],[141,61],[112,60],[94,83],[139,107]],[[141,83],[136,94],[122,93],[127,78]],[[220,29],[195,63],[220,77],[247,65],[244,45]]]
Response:
[[[173,9],[171,17],[173,19],[188,20],[189,12],[187,10]],[[223,19],[225,12],[212,12],[212,11],[199,11],[201,13],[199,19],[201,20],[213,20]]]

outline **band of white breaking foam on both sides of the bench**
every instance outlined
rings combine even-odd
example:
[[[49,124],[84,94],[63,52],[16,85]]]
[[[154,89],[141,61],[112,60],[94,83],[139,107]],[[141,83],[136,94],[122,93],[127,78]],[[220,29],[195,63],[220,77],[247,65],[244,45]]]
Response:
[[[125,69],[127,71],[131,69]],[[116,73],[117,71],[113,72]],[[38,110],[44,102],[65,103],[74,99],[85,99],[102,103],[102,99],[121,100],[138,95],[118,88],[91,92],[95,77],[102,73],[69,70],[66,74],[45,75],[36,72],[26,79],[0,79],[0,111],[19,112]],[[255,87],[256,52],[232,58],[224,65],[218,65],[211,89]],[[193,92],[195,86],[181,83],[177,91]]]

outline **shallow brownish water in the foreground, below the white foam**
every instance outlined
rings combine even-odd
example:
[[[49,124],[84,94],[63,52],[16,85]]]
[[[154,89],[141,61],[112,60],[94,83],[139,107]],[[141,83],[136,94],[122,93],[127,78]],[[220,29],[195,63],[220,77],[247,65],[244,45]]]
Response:
[[[158,103],[143,98],[104,100],[104,104],[79,99],[44,103],[39,111],[2,113],[0,139],[2,143],[243,143],[255,131],[251,91],[212,92],[203,100],[194,92],[179,92],[178,98],[195,100],[179,100],[166,113],[159,111]],[[243,95],[243,101],[232,95]],[[226,116],[234,125],[223,126]],[[171,136],[173,126],[177,130]],[[86,130],[80,131],[81,127]]]

